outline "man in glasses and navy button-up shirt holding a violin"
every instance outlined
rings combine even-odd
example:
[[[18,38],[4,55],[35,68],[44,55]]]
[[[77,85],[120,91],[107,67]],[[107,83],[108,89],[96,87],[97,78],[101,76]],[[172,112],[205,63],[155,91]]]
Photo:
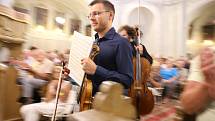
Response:
[[[99,46],[99,54],[81,61],[83,70],[93,84],[93,95],[103,81],[115,81],[128,89],[133,80],[132,48],[127,39],[112,27],[115,9],[106,0],[94,0],[89,4],[88,16]]]

